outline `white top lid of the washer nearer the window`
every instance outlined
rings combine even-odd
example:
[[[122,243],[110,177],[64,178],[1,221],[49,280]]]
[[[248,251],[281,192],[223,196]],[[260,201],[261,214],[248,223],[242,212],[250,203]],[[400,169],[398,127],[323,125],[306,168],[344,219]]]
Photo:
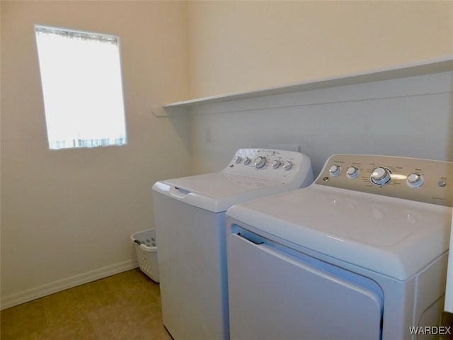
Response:
[[[236,203],[282,193],[289,190],[289,187],[278,181],[220,171],[160,181],[154,184],[153,190],[198,208],[224,212]]]

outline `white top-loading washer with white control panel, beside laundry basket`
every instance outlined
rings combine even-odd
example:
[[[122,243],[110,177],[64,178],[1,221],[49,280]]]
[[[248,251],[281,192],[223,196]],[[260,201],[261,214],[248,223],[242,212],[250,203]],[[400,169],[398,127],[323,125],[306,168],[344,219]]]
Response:
[[[154,184],[162,318],[173,339],[229,339],[226,209],[312,181],[304,154],[240,149],[223,171]]]

